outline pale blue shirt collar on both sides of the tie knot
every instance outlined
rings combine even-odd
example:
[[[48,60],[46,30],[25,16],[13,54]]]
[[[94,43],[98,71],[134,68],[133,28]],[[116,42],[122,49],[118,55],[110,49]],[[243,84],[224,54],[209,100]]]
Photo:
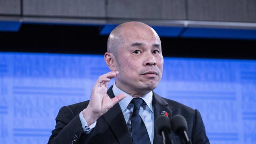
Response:
[[[119,102],[119,105],[120,105],[121,110],[123,112],[134,97],[132,97],[130,94],[127,94],[126,92],[119,89],[115,85],[115,83],[113,85],[112,90],[113,90],[113,93],[114,93],[115,96],[117,96],[119,94],[126,94],[126,97]],[[141,96],[140,98],[142,98],[145,101],[145,103],[149,107],[150,111],[153,113],[153,108],[152,108],[153,92],[152,92],[152,90],[150,92],[148,92],[147,94],[145,94],[144,96]]]

